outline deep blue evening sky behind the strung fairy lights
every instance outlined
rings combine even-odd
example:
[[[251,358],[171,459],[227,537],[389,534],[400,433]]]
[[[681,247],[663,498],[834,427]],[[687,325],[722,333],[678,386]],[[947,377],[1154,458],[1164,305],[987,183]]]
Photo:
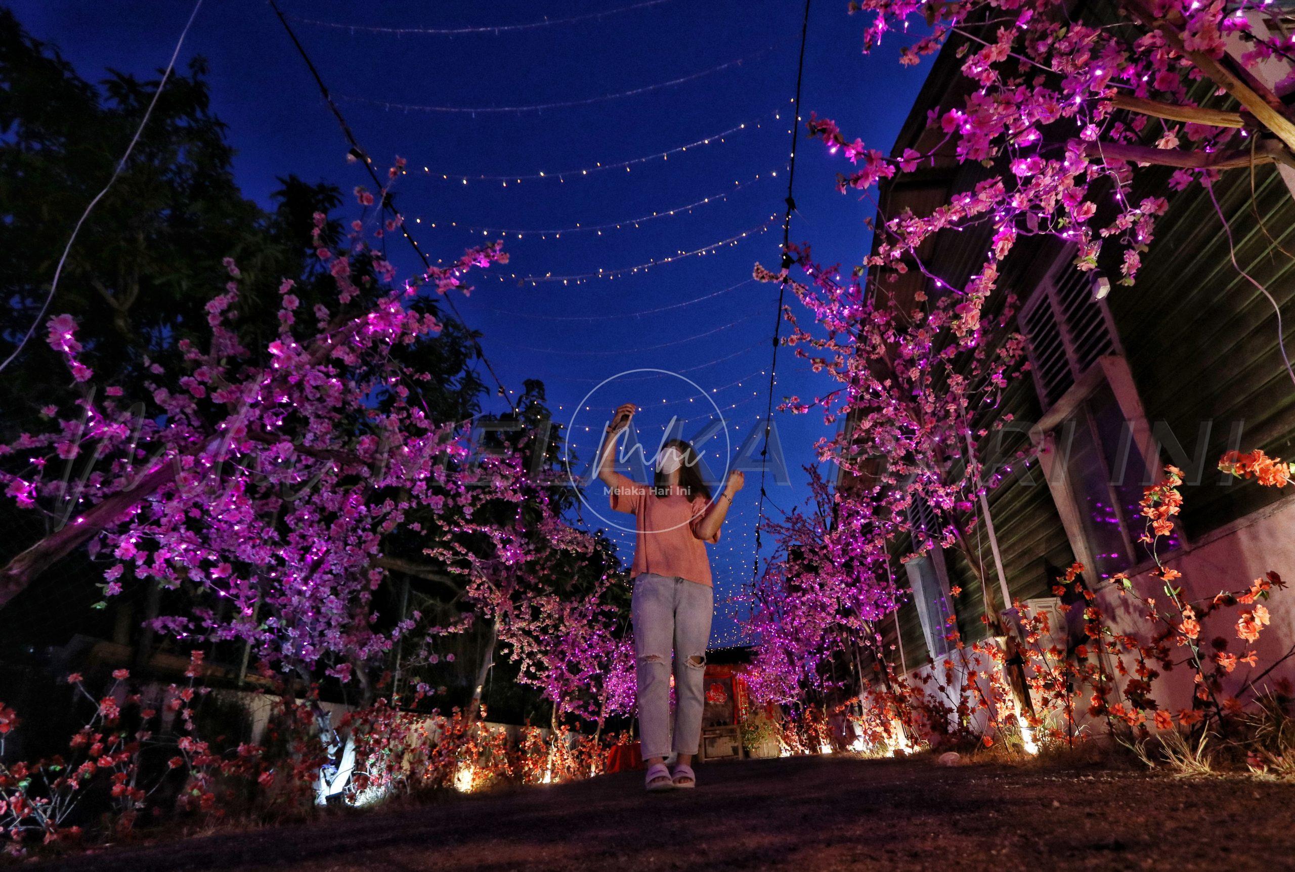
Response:
[[[457,29],[566,18],[635,3],[281,0],[281,8],[290,17],[322,22]],[[105,67],[152,78],[164,66],[193,8],[186,0],[18,0],[12,5],[36,38],[54,43],[92,80]],[[479,280],[471,298],[457,301],[465,320],[484,332],[486,354],[508,387],[521,391],[523,378],[541,378],[566,425],[581,398],[606,378],[638,368],[681,372],[714,398],[736,452],[764,416],[777,288],[747,282],[715,292],[750,279],[756,260],[774,270],[778,264],[803,9],[787,0],[666,0],[601,19],[456,36],[293,26],[374,161],[386,166],[396,154],[409,161],[398,205],[423,250],[434,258],[457,257],[474,242],[467,227],[523,231],[521,240],[515,232],[505,237],[512,262],[501,276]],[[862,18],[846,13],[844,0],[813,4],[802,118],[817,111],[837,119],[847,135],[888,150],[927,67],[901,67],[897,40],[864,56],[862,25]],[[196,54],[210,63],[214,110],[229,126],[237,179],[246,196],[268,205],[276,176],[289,172],[335,183],[346,192],[368,184],[363,170],[346,162],[335,119],[263,0],[206,0],[181,62]],[[677,86],[544,111],[469,114],[376,105],[491,108],[587,100],[739,58],[747,60]],[[628,172],[593,171],[566,181],[552,178],[563,170],[657,154],[742,123],[746,130],[724,143],[636,163]],[[829,157],[821,143],[808,140],[802,127],[795,176],[799,214],[793,218],[791,238],[812,242],[820,260],[848,267],[868,250],[864,219],[873,206],[835,192],[835,174],[847,166]],[[546,178],[506,187],[462,181],[464,176],[540,171]],[[777,178],[771,178],[773,172]],[[637,228],[609,228],[601,236],[524,233],[611,224],[720,193],[728,197]],[[771,215],[776,218],[767,233],[628,277],[524,286],[513,279],[644,264],[751,231]],[[51,228],[56,231],[63,232]],[[475,241],[499,237],[497,232],[477,233]],[[392,260],[405,273],[413,272],[413,254],[403,242],[392,244]],[[800,310],[790,294],[789,302]],[[776,402],[825,389],[830,387],[822,376],[807,372],[787,349],[780,351]],[[501,407],[501,400],[492,402]],[[649,456],[670,413],[690,419],[684,424],[686,437],[702,425],[704,412],[714,415],[677,377],[623,376],[597,390],[588,411],[581,408],[583,417],[575,419],[569,435],[580,456],[592,455],[606,416],[622,402],[645,408],[636,425]],[[813,442],[830,430],[817,413],[774,411],[774,424],[791,483],[780,487],[771,477],[767,492],[774,505],[790,509],[808,496],[800,466],[815,461]],[[707,456],[721,465],[716,452],[723,453],[723,439],[711,446]],[[749,473],[721,542],[708,545],[716,580],[712,647],[734,641],[733,606],[724,599],[751,578],[758,495],[759,476]],[[632,520],[609,512],[601,496],[592,500],[592,508],[622,526]],[[583,518],[607,526],[589,508]],[[632,535],[615,529],[611,534],[628,561]],[[769,547],[768,536],[764,547]]]

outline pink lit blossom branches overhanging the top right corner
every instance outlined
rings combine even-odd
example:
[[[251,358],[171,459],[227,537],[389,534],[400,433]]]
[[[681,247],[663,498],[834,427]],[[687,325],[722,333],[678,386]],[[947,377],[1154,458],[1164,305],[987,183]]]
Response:
[[[1169,188],[1210,187],[1219,172],[1254,163],[1295,167],[1295,120],[1281,95],[1295,88],[1290,19],[1268,0],[1125,0],[1072,8],[1054,0],[862,0],[872,16],[864,51],[891,31],[923,35],[903,49],[903,63],[962,43],[965,93],[932,110],[931,144],[886,155],[848,140],[829,119],[812,135],[859,168],[839,187],[866,190],[882,179],[938,161],[992,168],[973,190],[954,194],[930,215],[883,215],[869,267],[903,260],[939,285],[918,257],[944,228],[989,223],[992,242],[970,281],[953,289],[958,336],[978,329],[996,289],[998,267],[1023,236],[1048,233],[1076,246],[1075,266],[1112,264],[1132,285],[1153,242],[1163,196],[1134,194],[1137,167],[1176,167]],[[1200,89],[1197,82],[1213,88]],[[1203,106],[1229,95],[1241,111]],[[1289,172],[1289,170],[1286,170]],[[1295,175],[1287,176],[1295,181]],[[1118,264],[1118,266],[1114,266]]]

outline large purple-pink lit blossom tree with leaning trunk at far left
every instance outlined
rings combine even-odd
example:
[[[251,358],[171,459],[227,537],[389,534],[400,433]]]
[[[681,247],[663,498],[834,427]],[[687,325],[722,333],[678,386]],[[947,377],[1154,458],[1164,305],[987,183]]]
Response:
[[[324,222],[316,215],[317,238]],[[388,543],[447,535],[435,518],[469,513],[509,482],[475,487],[461,463],[467,422],[429,417],[431,374],[404,356],[442,327],[425,288],[466,293],[470,270],[506,255],[499,244],[474,249],[390,288],[394,267],[364,229],[356,222],[350,250],[316,250],[332,306],[302,311],[295,282],[282,282],[264,347],[245,347],[236,330],[240,270],[227,259],[229,282],[206,306],[210,341],[180,341],[180,372],[152,364],[144,396],[91,387],[75,320],[49,320],[47,341],[87,390],[73,409],[47,409],[48,431],[3,448],[5,492],[54,529],[0,570],[0,605],[87,547],[104,564],[105,596],[139,580],[176,592],[181,608],[157,630],[368,682],[368,666],[413,626],[379,623],[373,609]]]

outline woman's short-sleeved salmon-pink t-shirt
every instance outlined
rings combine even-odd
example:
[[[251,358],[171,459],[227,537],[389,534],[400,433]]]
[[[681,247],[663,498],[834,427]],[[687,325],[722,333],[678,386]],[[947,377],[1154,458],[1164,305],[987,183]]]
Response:
[[[675,485],[667,496],[657,496],[648,485],[615,473],[610,501],[615,512],[635,516],[635,564],[631,575],[655,573],[677,575],[698,584],[711,584],[711,561],[706,545],[697,536],[697,526],[719,498],[702,495],[689,500],[684,488]],[[720,531],[704,542],[719,542]]]

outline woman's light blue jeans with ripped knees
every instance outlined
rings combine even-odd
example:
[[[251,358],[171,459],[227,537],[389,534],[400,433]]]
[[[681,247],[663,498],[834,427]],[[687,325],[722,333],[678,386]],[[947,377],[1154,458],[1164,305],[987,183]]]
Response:
[[[642,758],[668,757],[671,652],[675,662],[675,740],[680,754],[695,754],[706,707],[706,645],[711,640],[715,588],[686,578],[640,573],[631,615],[638,679],[638,739]]]

